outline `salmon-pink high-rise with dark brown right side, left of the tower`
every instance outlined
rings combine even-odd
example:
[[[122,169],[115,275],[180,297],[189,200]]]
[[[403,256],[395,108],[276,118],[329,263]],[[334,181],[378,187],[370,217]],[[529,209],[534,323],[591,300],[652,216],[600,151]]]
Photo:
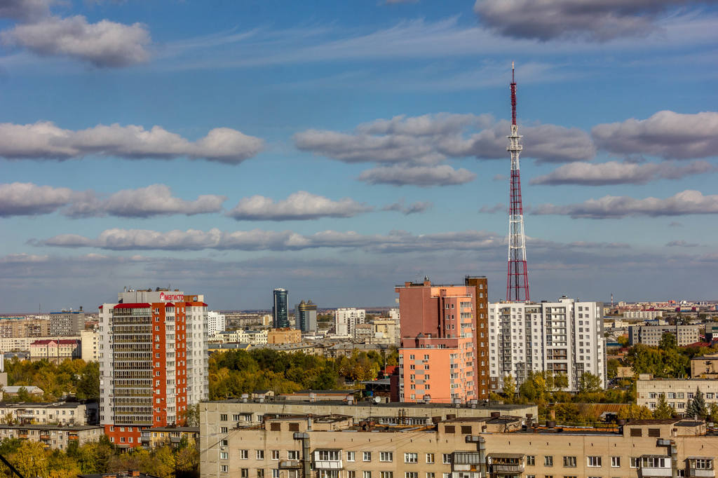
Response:
[[[401,314],[400,401],[488,398],[486,278],[465,284],[397,286]],[[447,373],[447,370],[449,373]]]

